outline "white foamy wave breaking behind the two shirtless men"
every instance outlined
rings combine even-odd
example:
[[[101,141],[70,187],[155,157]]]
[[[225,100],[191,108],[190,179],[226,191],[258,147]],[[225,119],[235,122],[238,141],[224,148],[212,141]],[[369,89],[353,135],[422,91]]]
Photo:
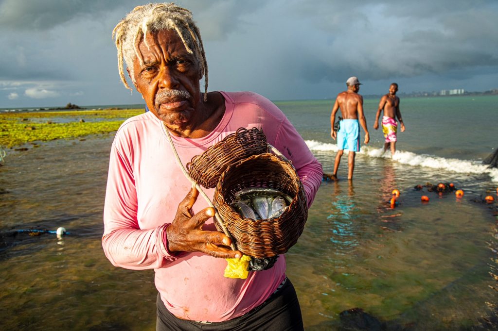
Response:
[[[321,143],[316,140],[306,140],[306,145],[308,145],[309,149],[312,151],[337,152],[336,144]],[[389,151],[384,154],[383,148],[373,148],[369,146],[362,146],[361,152],[358,154],[366,155],[372,158],[391,158]],[[392,160],[402,165],[424,166],[432,169],[441,169],[457,173],[488,173],[492,181],[498,182],[498,169],[488,168],[488,166],[483,165],[481,161],[446,159],[434,155],[415,154],[403,151],[396,151],[396,154],[394,154]]]

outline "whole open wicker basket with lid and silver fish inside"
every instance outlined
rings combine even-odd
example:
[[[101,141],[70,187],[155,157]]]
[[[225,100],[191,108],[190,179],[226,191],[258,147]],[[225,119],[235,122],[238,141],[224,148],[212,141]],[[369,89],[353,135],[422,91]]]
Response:
[[[261,130],[240,128],[186,167],[199,185],[216,187],[215,225],[250,257],[249,271],[271,268],[297,242],[308,216],[306,195],[294,167]]]

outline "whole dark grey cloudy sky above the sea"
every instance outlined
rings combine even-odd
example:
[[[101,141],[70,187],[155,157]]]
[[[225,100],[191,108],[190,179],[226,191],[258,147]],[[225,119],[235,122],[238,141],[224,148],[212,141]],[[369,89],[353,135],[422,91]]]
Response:
[[[30,95],[57,100],[59,94],[80,97],[65,103],[141,102],[120,83],[111,31],[144,2],[0,0],[0,83],[30,82],[48,91],[26,93],[25,84],[10,84],[8,93],[18,97],[0,93],[0,101],[21,103]],[[498,72],[496,0],[175,2],[198,22],[210,89],[319,98],[353,75],[400,80],[405,91],[409,82],[417,81],[417,89],[461,82],[457,88],[477,77],[483,86],[498,87],[491,86]],[[433,85],[424,83],[428,77]]]

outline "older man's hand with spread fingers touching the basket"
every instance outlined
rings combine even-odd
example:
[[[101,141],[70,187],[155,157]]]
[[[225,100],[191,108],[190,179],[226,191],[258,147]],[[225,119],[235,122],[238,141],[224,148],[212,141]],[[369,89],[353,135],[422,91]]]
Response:
[[[172,252],[200,251],[222,258],[241,257],[240,251],[230,249],[232,241],[225,234],[202,230],[204,223],[214,216],[215,210],[208,207],[192,215],[192,206],[198,196],[199,192],[194,186],[178,205],[175,219],[166,228],[168,249]]]

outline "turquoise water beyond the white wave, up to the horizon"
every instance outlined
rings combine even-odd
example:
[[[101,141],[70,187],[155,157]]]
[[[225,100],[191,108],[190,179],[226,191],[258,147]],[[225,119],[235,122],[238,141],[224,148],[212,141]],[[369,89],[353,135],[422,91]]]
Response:
[[[377,99],[365,99],[364,111],[373,147],[383,145],[374,130]],[[284,101],[277,105],[304,139],[333,142],[330,113],[334,100]],[[406,131],[398,134],[398,149],[445,158],[482,160],[498,148],[498,96],[401,98]],[[362,131],[363,135],[363,131]]]

